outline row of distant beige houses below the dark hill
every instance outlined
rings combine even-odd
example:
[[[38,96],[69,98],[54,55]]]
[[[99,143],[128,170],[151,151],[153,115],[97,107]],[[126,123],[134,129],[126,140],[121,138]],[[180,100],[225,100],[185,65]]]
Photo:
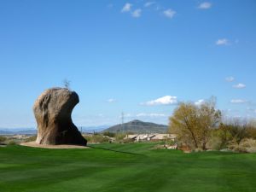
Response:
[[[171,139],[174,141],[176,138],[176,135],[174,134],[137,134],[137,135],[127,135],[125,137],[126,139],[131,139],[134,142],[140,142],[140,141],[163,141],[166,139]]]

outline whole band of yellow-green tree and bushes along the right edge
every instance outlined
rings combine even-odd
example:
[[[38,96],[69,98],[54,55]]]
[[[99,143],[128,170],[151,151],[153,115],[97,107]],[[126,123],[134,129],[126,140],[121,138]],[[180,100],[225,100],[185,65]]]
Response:
[[[237,149],[241,143],[251,139],[256,150],[255,121],[247,119],[225,119],[216,108],[213,97],[200,105],[181,102],[169,119],[169,133],[177,135],[177,143],[190,149]],[[255,144],[255,146],[254,146]]]

